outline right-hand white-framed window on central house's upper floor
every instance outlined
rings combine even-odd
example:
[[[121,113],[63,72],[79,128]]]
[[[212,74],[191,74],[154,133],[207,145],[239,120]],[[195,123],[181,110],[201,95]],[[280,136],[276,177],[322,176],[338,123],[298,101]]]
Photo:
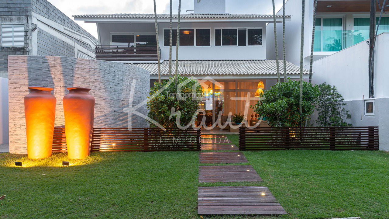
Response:
[[[262,29],[215,29],[215,46],[262,46]]]

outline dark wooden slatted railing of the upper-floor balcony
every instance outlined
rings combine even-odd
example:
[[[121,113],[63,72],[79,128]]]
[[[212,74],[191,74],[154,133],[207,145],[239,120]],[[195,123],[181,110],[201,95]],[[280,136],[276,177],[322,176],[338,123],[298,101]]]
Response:
[[[156,46],[96,46],[96,59],[106,61],[158,61]],[[159,49],[161,54],[161,49]]]

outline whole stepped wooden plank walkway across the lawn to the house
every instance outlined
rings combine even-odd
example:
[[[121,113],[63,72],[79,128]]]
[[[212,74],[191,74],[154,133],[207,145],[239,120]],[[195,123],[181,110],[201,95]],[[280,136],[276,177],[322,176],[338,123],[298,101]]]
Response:
[[[202,150],[237,150],[226,136],[202,135]],[[202,164],[247,163],[242,152],[200,152]],[[251,165],[200,166],[198,181],[261,182]],[[264,186],[198,187],[198,214],[287,214]]]

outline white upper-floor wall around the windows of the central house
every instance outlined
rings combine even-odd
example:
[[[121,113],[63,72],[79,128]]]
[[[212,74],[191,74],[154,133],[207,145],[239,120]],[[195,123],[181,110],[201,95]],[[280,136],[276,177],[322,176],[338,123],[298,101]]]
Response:
[[[177,23],[173,23],[173,28]],[[169,59],[169,46],[163,46],[163,30],[169,28],[169,23],[159,23],[159,46],[161,59]],[[266,59],[266,26],[265,22],[235,22],[235,23],[180,23],[180,29],[211,28],[211,46],[180,46],[180,60],[263,60]],[[262,28],[262,46],[215,46],[215,28]],[[98,23],[101,45],[110,45],[110,33],[149,32],[155,34],[154,23]],[[172,58],[175,59],[175,46],[172,48]]]

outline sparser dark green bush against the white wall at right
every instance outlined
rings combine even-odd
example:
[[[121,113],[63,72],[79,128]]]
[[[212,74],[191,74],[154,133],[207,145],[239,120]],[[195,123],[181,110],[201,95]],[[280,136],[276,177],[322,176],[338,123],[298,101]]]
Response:
[[[338,93],[335,86],[327,83],[319,85],[320,95],[317,99],[318,117],[316,120],[319,126],[351,126],[346,120],[351,118],[349,110],[343,108],[347,104],[342,95]]]

